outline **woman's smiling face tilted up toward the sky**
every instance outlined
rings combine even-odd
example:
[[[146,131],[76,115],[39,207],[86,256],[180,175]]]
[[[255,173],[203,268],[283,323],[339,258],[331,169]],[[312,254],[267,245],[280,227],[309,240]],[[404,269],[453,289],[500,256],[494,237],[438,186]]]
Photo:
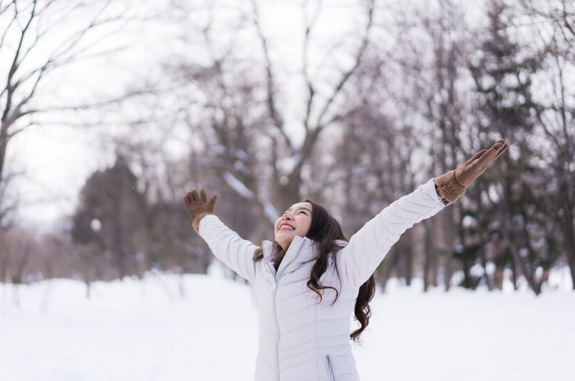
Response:
[[[311,226],[311,204],[298,202],[276,220],[274,226],[276,242],[287,250],[295,236],[305,237]]]

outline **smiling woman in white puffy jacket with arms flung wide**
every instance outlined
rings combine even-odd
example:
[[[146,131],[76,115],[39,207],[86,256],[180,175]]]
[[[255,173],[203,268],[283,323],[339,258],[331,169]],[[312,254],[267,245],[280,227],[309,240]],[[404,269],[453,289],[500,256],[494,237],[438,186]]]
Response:
[[[356,381],[350,339],[368,324],[373,272],[400,235],[455,202],[507,149],[499,140],[457,169],[385,207],[349,241],[321,205],[291,205],[274,226],[274,242],[257,246],[214,215],[217,195],[192,190],[185,208],[219,260],[254,285],[259,317],[257,381]],[[354,313],[359,329],[352,331]]]

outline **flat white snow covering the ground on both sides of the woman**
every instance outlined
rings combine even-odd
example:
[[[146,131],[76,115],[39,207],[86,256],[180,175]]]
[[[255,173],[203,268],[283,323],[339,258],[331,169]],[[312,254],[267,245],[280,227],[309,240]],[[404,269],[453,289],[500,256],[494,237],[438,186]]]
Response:
[[[363,381],[573,381],[575,292],[423,293],[390,283],[354,345]],[[252,380],[250,286],[147,274],[0,284],[1,381]]]

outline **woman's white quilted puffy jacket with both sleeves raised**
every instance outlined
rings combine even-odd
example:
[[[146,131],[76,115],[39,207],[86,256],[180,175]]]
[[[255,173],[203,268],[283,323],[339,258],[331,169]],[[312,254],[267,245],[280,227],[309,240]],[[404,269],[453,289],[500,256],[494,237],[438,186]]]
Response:
[[[255,244],[215,215],[202,218],[199,234],[214,255],[255,288],[260,325],[255,380],[359,380],[349,339],[359,286],[405,230],[444,206],[431,179],[365,224],[336,254],[337,272],[331,260],[320,279],[339,290],[335,303],[332,289],[324,289],[318,303],[306,286],[316,258],[313,241],[296,236],[276,272],[277,244],[264,241],[264,259],[254,262]]]

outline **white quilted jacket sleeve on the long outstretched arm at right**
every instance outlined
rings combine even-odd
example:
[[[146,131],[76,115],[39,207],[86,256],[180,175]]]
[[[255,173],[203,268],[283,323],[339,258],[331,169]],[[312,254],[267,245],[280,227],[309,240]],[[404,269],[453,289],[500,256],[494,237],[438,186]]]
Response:
[[[435,191],[434,179],[385,207],[352,236],[337,255],[340,276],[359,288],[376,271],[401,234],[445,207]]]

